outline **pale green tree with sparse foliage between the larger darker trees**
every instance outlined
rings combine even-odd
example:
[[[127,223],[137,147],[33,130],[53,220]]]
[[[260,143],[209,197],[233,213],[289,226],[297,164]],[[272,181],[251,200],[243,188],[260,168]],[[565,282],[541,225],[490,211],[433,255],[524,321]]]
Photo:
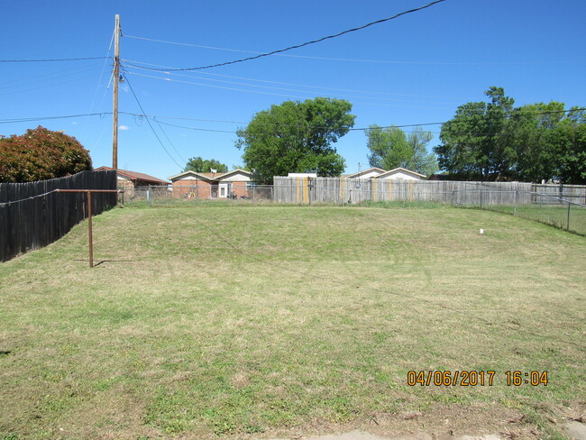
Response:
[[[368,160],[371,167],[383,170],[405,168],[429,176],[439,170],[434,153],[427,152],[427,144],[434,135],[416,127],[406,134],[400,128],[381,128],[372,124],[366,131],[367,146],[371,153]]]

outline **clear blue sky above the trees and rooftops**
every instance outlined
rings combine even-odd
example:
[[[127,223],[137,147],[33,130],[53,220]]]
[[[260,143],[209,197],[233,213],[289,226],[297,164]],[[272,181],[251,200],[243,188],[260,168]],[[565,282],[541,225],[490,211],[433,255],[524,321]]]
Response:
[[[190,68],[268,52],[426,5],[429,0],[201,0],[5,2],[1,60],[113,55],[114,16],[123,30],[128,81],[120,111],[118,166],[167,179],[190,157],[243,164],[235,130],[261,110],[315,96],[353,103],[354,127],[426,124],[504,87],[516,105],[586,105],[586,2],[446,0],[305,48],[197,72]],[[156,41],[155,41],[156,40]],[[160,42],[169,41],[169,42]],[[179,43],[179,44],[171,44]],[[206,48],[202,47],[206,46]],[[215,48],[215,49],[210,49]],[[112,115],[27,122],[20,118],[107,114],[112,60],[0,63],[0,134],[41,124],[75,136],[94,166],[112,165]],[[180,119],[182,118],[182,119]],[[180,125],[182,128],[167,124]],[[161,130],[162,127],[162,130]],[[427,126],[439,140],[440,125]],[[406,129],[408,130],[408,129]],[[346,172],[368,168],[364,132],[334,144]],[[166,150],[166,151],[165,151]]]

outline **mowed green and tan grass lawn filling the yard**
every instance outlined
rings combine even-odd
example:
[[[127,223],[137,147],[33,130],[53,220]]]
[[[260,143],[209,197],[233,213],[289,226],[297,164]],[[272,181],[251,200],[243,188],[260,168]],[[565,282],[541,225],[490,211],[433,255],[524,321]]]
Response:
[[[0,264],[0,439],[563,438],[586,407],[586,239],[428,207],[116,208],[94,269],[87,224]],[[437,370],[495,376],[407,385]]]

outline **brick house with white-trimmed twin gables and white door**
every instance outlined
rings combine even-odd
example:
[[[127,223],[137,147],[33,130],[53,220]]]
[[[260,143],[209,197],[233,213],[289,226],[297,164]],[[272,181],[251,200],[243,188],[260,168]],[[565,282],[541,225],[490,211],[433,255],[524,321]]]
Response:
[[[249,197],[252,173],[232,170],[225,173],[183,171],[169,180],[173,197],[181,198],[238,198]]]

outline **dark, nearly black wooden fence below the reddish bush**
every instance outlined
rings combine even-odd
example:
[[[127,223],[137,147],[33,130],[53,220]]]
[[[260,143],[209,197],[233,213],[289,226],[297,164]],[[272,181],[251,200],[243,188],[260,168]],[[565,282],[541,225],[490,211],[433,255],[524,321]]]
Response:
[[[0,261],[59,240],[87,218],[84,193],[59,189],[116,189],[116,171],[83,171],[60,179],[0,183]],[[94,215],[115,206],[115,193],[91,197]]]

